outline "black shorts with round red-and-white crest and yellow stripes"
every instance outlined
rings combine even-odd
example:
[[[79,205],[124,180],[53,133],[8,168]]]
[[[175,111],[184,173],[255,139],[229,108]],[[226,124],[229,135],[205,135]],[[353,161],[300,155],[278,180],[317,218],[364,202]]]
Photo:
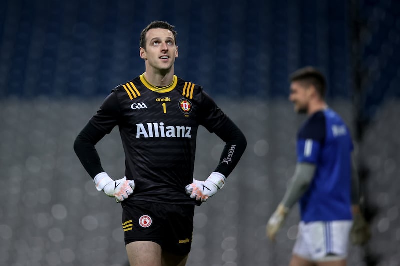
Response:
[[[147,240],[175,255],[190,252],[194,205],[126,201],[122,205],[125,245]]]

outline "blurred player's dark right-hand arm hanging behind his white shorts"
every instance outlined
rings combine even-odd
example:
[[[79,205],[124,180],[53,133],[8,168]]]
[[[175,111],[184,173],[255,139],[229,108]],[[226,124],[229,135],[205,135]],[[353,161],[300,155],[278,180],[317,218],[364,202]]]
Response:
[[[352,160],[351,169],[351,211],[353,214],[353,224],[350,230],[350,240],[353,245],[363,245],[371,237],[369,224],[366,222],[360,208],[359,176]]]

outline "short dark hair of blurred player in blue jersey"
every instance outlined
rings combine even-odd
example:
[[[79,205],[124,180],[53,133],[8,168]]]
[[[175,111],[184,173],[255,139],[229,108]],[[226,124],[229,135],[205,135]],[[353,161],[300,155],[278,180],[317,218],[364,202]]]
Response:
[[[306,66],[297,69],[290,75],[290,81],[300,81],[307,85],[313,85],[321,98],[326,94],[326,79],[318,69],[312,66]]]

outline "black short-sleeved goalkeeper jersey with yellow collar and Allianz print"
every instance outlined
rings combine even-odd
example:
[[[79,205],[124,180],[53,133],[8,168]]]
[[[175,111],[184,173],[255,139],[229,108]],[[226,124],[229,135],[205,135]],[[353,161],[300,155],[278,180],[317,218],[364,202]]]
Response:
[[[193,180],[198,126],[214,132],[226,120],[201,86],[174,75],[159,88],[140,75],[114,88],[90,123],[104,133],[119,127],[125,175],[135,181],[129,199],[194,204],[185,186]]]

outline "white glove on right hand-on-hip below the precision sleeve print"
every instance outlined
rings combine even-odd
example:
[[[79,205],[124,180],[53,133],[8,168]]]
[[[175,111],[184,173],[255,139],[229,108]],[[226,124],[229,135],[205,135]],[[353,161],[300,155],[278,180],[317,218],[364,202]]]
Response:
[[[205,202],[208,197],[216,193],[218,189],[223,188],[226,182],[226,177],[218,172],[212,172],[205,181],[196,180],[193,178],[193,183],[186,186],[186,193],[190,198],[196,201]]]

